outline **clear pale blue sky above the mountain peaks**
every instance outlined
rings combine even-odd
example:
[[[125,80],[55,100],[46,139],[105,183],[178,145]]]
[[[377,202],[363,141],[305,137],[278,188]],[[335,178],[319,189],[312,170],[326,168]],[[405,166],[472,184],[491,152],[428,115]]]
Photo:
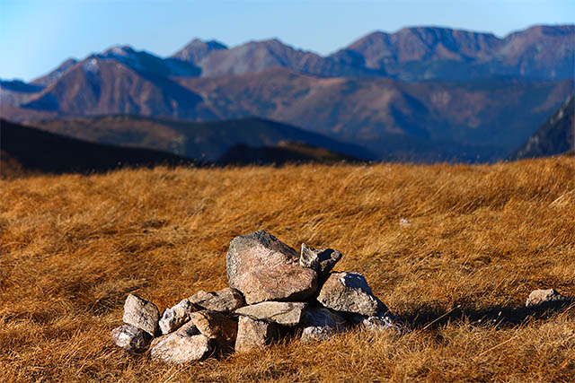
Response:
[[[117,44],[164,57],[195,37],[228,46],[279,38],[325,55],[374,30],[438,25],[501,37],[574,19],[575,0],[0,0],[0,78],[30,81]]]

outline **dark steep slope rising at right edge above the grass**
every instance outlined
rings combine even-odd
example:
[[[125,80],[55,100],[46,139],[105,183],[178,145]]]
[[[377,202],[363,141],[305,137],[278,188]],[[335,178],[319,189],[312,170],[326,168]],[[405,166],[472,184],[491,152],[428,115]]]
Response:
[[[509,160],[544,157],[575,149],[575,93],[529,137]]]

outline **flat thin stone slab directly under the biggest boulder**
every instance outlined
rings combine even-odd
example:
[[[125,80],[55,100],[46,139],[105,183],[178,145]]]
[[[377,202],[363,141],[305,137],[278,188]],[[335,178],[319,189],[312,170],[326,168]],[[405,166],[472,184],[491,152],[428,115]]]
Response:
[[[261,302],[236,309],[235,314],[283,326],[297,326],[305,306],[304,302]]]

